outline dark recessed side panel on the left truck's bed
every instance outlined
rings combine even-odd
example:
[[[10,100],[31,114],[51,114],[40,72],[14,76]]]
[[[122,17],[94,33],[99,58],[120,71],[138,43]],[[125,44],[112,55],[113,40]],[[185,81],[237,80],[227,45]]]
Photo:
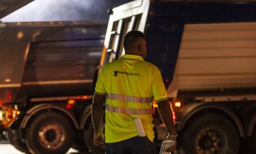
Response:
[[[100,62],[102,41],[32,44],[22,81],[30,98],[92,94],[92,78]]]

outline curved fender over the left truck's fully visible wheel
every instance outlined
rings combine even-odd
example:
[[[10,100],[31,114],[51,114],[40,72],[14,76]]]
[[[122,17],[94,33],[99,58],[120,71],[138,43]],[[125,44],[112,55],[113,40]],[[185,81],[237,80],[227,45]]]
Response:
[[[38,104],[30,108],[30,110],[26,112],[26,115],[22,121],[22,124],[20,125],[20,129],[24,129],[26,127],[26,125],[28,124],[28,121],[31,119],[31,117],[33,117],[33,115],[45,109],[54,109],[54,110],[59,110],[60,112],[63,112],[71,119],[71,121],[75,126],[75,129],[79,129],[79,124],[77,123],[77,120],[73,117],[73,115],[70,112],[68,112],[67,110],[59,106],[53,106],[52,104]]]

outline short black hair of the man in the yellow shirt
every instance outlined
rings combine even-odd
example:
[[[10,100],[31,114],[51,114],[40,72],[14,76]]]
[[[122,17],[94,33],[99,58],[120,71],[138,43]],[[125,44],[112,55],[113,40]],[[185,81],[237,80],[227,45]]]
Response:
[[[135,41],[137,40],[137,38],[143,38],[145,39],[145,34],[142,33],[141,31],[138,30],[132,30],[129,31],[126,35],[125,35],[125,40],[123,42],[123,47],[125,49],[129,48],[129,46],[131,46],[132,44],[135,43]]]

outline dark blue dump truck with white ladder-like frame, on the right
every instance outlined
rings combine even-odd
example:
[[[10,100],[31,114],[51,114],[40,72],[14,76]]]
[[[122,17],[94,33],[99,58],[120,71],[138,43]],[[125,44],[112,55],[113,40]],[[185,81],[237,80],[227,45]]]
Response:
[[[256,153],[255,2],[137,0],[108,13],[100,66],[125,54],[128,31],[146,34],[146,61],[162,73],[179,153]],[[166,131],[154,117],[158,143]]]

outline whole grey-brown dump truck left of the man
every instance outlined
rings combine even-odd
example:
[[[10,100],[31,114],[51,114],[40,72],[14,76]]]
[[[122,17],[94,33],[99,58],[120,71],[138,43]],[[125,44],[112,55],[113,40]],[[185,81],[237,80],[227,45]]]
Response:
[[[88,151],[105,32],[106,21],[1,22],[0,137],[25,153]]]

